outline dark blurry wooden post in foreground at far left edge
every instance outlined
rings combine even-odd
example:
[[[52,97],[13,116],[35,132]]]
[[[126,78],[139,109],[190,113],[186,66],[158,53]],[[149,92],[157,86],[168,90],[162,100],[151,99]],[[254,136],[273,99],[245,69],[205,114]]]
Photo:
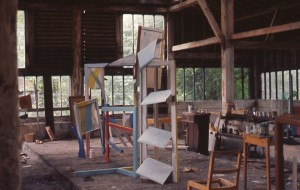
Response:
[[[0,189],[21,189],[16,0],[0,0]]]

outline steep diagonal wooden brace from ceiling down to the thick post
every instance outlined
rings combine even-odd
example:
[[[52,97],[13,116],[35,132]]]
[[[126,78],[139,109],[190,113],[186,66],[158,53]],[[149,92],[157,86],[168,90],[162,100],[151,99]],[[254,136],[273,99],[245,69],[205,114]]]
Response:
[[[222,31],[221,31],[215,17],[211,13],[211,11],[206,3],[206,0],[198,0],[198,4],[200,5],[205,17],[207,18],[208,23],[210,24],[214,34],[218,38],[219,42],[222,43],[222,41],[223,41]]]

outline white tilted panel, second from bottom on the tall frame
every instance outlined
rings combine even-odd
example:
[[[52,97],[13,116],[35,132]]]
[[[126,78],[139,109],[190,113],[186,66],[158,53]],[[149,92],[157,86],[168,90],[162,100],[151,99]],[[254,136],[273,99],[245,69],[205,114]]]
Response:
[[[149,127],[138,139],[138,142],[159,148],[165,148],[171,137],[172,133],[170,131]]]

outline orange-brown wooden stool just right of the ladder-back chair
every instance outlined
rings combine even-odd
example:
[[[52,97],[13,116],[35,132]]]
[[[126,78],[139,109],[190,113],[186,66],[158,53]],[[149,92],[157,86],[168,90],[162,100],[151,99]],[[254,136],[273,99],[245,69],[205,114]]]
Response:
[[[267,174],[267,190],[271,189],[270,183],[270,143],[272,136],[260,136],[256,134],[244,134],[244,189],[247,189],[247,145],[257,145],[266,149],[266,174]]]

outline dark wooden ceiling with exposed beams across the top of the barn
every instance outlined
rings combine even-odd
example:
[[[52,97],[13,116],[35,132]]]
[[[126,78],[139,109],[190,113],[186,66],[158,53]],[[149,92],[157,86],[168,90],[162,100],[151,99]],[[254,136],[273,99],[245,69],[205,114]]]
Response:
[[[24,10],[76,8],[117,14],[175,15],[175,58],[220,58],[221,0],[19,0],[19,9]],[[299,10],[299,0],[235,0],[231,43],[238,52],[236,57],[249,60],[253,51],[266,54],[265,50],[291,50],[296,51],[292,54],[297,58],[300,51]]]

